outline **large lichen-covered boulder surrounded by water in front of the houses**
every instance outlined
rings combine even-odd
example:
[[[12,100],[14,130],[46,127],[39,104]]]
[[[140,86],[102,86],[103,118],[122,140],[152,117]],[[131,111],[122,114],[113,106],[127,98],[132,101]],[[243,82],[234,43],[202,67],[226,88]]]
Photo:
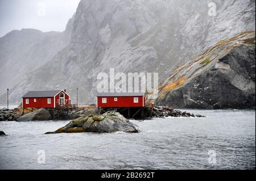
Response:
[[[81,132],[113,133],[118,131],[126,133],[140,132],[137,125],[131,123],[120,113],[109,111],[103,115],[91,114],[80,117],[71,121],[65,127],[60,128],[55,132],[48,132],[46,134]]]

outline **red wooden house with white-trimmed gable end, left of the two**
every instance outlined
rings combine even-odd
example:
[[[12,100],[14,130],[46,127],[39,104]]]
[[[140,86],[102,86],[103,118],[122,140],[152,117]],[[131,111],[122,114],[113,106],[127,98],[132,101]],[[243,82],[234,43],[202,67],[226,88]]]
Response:
[[[29,91],[22,97],[23,108],[56,108],[71,105],[71,97],[63,90]]]

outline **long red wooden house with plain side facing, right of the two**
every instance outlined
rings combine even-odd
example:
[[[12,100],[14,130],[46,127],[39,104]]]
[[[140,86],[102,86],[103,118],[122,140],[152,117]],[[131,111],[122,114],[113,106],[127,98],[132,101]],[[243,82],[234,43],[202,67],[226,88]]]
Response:
[[[144,93],[102,93],[97,95],[97,107],[145,107]]]

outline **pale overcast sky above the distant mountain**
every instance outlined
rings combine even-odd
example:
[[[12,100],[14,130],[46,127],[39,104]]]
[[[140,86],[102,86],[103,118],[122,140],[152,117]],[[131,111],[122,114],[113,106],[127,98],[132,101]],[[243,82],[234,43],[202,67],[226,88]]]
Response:
[[[64,31],[80,0],[0,0],[0,37],[12,30]]]

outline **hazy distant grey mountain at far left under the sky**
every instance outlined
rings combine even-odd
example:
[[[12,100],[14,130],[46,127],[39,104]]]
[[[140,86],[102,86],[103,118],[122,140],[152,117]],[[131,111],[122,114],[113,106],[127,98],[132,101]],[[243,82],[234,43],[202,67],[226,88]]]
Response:
[[[0,91],[6,92],[17,85],[24,76],[40,69],[70,43],[73,20],[65,32],[46,32],[23,29],[14,30],[0,38]],[[32,87],[30,87],[32,89]],[[15,91],[15,90],[13,90]],[[17,99],[18,100],[18,99]]]

